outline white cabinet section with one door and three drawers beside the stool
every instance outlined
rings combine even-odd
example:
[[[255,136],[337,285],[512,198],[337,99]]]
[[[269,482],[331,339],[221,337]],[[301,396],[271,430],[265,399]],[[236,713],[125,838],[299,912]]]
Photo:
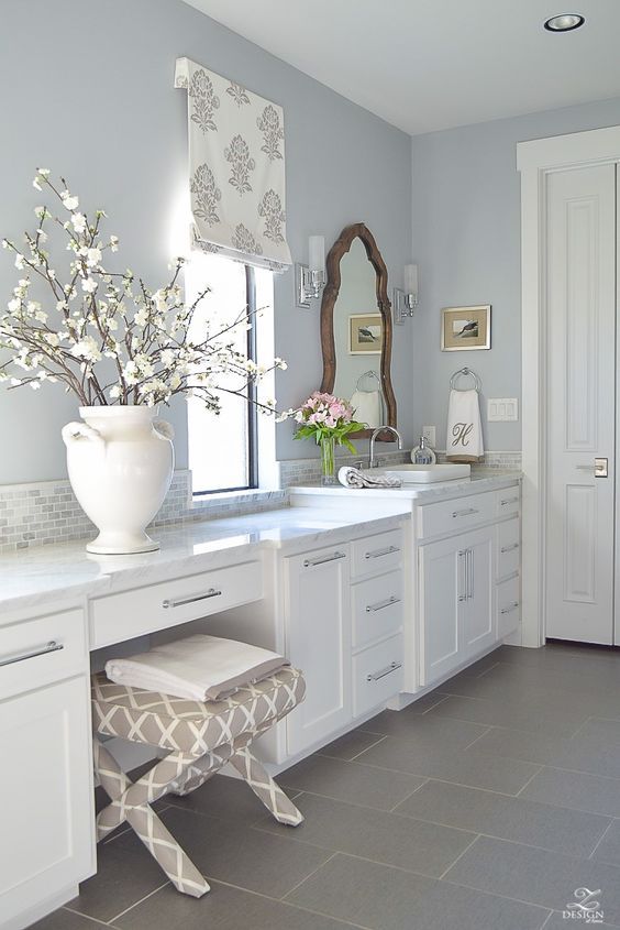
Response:
[[[285,721],[287,756],[329,742],[402,690],[402,548],[398,527],[281,557],[285,646],[307,683]]]

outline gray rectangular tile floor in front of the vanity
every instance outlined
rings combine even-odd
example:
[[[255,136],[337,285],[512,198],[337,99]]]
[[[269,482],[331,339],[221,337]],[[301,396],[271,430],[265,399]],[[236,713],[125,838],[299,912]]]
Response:
[[[164,801],[200,900],[125,831],[36,928],[567,930],[584,887],[620,927],[620,652],[502,646],[279,781],[297,829],[230,778]]]

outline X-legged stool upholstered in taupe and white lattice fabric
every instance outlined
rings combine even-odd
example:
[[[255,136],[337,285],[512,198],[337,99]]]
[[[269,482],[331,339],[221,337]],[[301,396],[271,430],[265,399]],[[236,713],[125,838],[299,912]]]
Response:
[[[295,668],[204,703],[114,685],[103,672],[92,676],[95,769],[111,800],[97,818],[97,840],[126,820],[175,887],[201,897],[209,885],[151,805],[170,792],[193,791],[230,762],[276,820],[297,827],[301,813],[252,755],[250,744],[286,716],[305,691]],[[146,743],[168,755],[132,783],[98,734]]]

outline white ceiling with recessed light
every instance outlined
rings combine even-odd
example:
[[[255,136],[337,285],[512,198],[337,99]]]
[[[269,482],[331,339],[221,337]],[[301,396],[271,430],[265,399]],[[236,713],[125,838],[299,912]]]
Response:
[[[411,134],[620,96],[620,0],[186,2]]]

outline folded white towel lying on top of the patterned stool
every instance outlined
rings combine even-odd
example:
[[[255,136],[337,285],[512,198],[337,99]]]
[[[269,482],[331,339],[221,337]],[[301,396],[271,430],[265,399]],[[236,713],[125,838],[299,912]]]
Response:
[[[160,691],[191,701],[217,701],[289,665],[284,656],[197,633],[129,658],[110,659],[106,675],[117,685]]]

